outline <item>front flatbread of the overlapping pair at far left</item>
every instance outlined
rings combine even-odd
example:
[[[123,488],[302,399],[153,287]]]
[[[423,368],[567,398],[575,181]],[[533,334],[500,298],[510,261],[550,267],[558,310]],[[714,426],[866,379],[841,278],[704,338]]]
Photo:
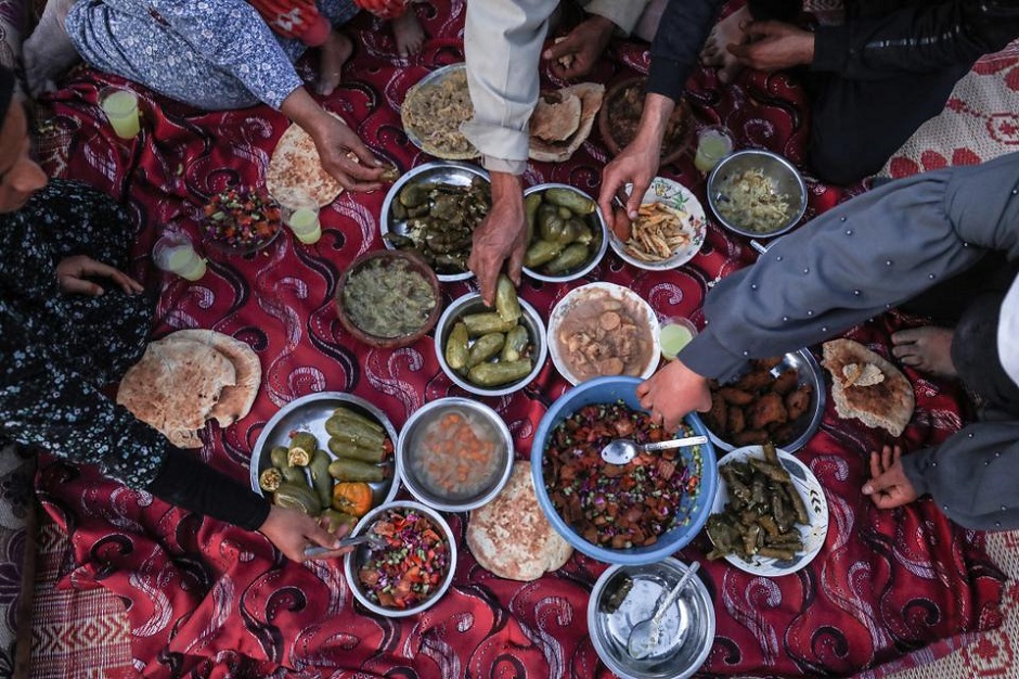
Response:
[[[205,426],[224,386],[236,384],[225,356],[201,342],[153,342],[124,375],[117,402],[163,432],[176,446],[197,448],[194,435]]]

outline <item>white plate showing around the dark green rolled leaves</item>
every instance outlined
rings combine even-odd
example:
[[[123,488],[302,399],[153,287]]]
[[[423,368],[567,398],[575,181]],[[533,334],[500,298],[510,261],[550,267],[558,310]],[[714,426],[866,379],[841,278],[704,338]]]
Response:
[[[747,458],[763,459],[763,448],[761,446],[736,448],[719,460],[719,470],[733,462],[745,462]],[[778,450],[778,461],[789,472],[792,485],[799,490],[800,497],[803,498],[803,504],[807,505],[807,515],[810,517],[810,523],[805,526],[799,526],[800,537],[803,540],[803,551],[797,552],[796,556],[789,561],[764,556],[754,556],[751,561],[745,561],[735,554],[725,556],[725,561],[740,571],[766,577],[789,575],[809,564],[821,551],[825,536],[828,535],[828,501],[824,497],[817,477],[807,469],[805,464],[785,450]],[[719,474],[719,491],[714,496],[714,505],[711,508],[711,513],[721,513],[725,509],[726,502],[728,502],[728,485],[725,483],[725,478]]]

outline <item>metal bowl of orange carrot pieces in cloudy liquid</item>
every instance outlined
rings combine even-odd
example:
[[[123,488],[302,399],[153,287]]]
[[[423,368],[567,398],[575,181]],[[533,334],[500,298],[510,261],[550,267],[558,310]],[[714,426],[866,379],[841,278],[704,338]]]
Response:
[[[513,471],[513,437],[494,410],[466,398],[434,400],[415,411],[397,443],[407,489],[446,512],[477,509]]]

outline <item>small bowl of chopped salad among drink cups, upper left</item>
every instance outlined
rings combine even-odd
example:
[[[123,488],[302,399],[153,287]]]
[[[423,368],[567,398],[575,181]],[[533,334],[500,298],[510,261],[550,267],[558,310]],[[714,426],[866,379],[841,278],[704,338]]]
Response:
[[[202,208],[203,242],[228,255],[249,255],[282,231],[280,204],[263,188],[230,187]]]

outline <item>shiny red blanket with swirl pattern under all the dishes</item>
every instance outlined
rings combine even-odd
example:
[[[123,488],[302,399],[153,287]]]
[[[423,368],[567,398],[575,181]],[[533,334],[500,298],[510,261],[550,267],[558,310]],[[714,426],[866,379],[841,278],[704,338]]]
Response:
[[[401,130],[404,93],[428,71],[463,59],[464,4],[429,0],[417,11],[433,37],[420,62],[398,63],[388,28],[362,15],[351,30],[357,49],[344,86],[324,102],[404,170],[429,159]],[[646,50],[615,44],[592,79],[610,85],[645,73]],[[324,236],[313,246],[285,234],[246,258],[208,252],[209,272],[196,283],[154,269],[149,253],[157,234],[181,228],[197,236],[195,208],[228,183],[260,181],[287,121],[267,107],[203,113],[132,86],[142,97],[143,132],[125,142],[96,103],[109,82],[120,81],[82,69],[52,97],[44,162],[53,174],[87,181],[130,206],[141,225],[132,272],[162,291],[154,335],[210,328],[247,342],[261,358],[263,384],[251,413],[225,431],[210,425],[203,434],[198,454],[208,464],[246,479],[265,423],[312,392],[357,394],[397,426],[426,401],[460,394],[439,369],[431,337],[407,349],[374,350],[336,320],[332,296],[339,272],[359,254],[383,246],[382,192],[343,194],[323,210]],[[723,123],[738,145],[802,163],[805,94],[788,77],[745,74],[737,86],[723,88],[700,73],[691,103],[700,123]],[[526,180],[596,193],[606,161],[595,131],[570,162],[533,164]],[[704,179],[691,156],[663,172],[704,200]],[[809,187],[808,218],[863,191],[813,180]],[[678,270],[637,271],[609,253],[588,280],[526,280],[521,295],[547,318],[570,289],[608,280],[639,292],[660,316],[700,320],[712,283],[756,256],[745,240],[717,225],[708,232],[701,253]],[[447,302],[468,287],[446,285]],[[889,333],[902,322],[881,317],[849,335],[887,355]],[[904,437],[915,449],[958,428],[965,399],[950,385],[907,372],[917,413]],[[567,386],[550,362],[523,392],[489,400],[510,425],[518,457],[529,454],[538,422]],[[827,541],[809,567],[766,579],[724,562],[704,563],[718,613],[706,676],[847,676],[999,624],[1003,578],[981,535],[954,526],[929,500],[880,512],[860,494],[866,451],[881,443],[879,433],[839,420],[829,406],[822,430],[798,453],[824,486],[830,510]],[[465,515],[450,516],[462,547],[450,592],[417,617],[391,620],[353,603],[336,564],[289,563],[258,534],[202,521],[94,470],[47,460],[38,486],[49,513],[70,534],[80,565],[69,579],[105,587],[126,603],[136,667],[146,676],[609,676],[583,623],[588,593],[605,565],[576,555],[536,582],[496,578],[465,549]],[[705,551],[698,540],[676,556],[704,561]]]

